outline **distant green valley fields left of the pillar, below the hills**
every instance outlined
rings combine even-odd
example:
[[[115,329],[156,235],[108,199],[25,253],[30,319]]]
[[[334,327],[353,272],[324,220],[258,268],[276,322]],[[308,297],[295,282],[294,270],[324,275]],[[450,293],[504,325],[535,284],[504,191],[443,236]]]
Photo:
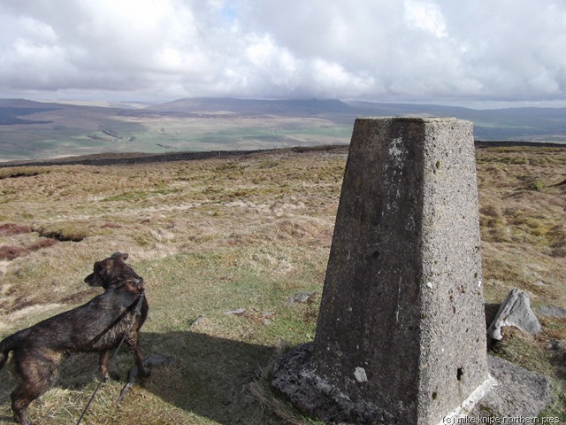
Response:
[[[22,127],[27,127],[25,132]],[[54,125],[0,128],[2,160],[45,159],[101,152],[272,149],[348,143],[351,126],[317,119],[99,120],[97,128]],[[20,131],[18,131],[20,130]]]

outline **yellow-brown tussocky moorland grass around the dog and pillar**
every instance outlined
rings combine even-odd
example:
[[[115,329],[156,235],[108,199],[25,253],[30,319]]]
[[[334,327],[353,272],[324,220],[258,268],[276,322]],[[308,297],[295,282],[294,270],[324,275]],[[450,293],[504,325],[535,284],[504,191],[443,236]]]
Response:
[[[83,423],[317,423],[268,390],[289,344],[312,340],[347,148],[269,151],[134,166],[0,169],[0,336],[80,305],[83,278],[114,251],[146,282],[142,349],[171,361],[119,396],[130,355]],[[486,301],[510,289],[532,306],[566,306],[566,150],[478,149]],[[307,303],[288,303],[299,292]],[[245,309],[240,314],[226,314]],[[536,337],[509,334],[493,351],[549,376],[547,414],[566,420],[566,320],[540,316]],[[66,364],[34,402],[40,425],[75,423],[96,387],[96,356]],[[0,372],[0,422],[15,386]]]

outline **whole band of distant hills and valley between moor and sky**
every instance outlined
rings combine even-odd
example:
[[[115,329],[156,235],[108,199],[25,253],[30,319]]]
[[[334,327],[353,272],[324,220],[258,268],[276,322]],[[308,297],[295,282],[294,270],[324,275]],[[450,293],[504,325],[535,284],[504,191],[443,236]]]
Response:
[[[183,98],[149,107],[0,99],[0,160],[348,143],[359,116],[449,116],[476,139],[566,143],[566,108],[475,110],[337,99]]]

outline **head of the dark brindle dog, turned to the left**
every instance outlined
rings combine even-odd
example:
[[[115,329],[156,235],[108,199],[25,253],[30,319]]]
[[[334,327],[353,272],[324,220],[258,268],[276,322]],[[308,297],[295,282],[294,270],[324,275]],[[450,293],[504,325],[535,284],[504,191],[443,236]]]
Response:
[[[113,285],[129,283],[142,290],[143,279],[124,261],[128,255],[115,252],[108,259],[96,261],[94,271],[85,277],[88,286],[102,286],[107,290]]]

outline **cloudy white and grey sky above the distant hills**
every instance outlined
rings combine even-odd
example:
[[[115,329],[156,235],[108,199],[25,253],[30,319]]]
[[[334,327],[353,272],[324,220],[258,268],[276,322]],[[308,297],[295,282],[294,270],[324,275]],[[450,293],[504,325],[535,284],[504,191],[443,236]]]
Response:
[[[564,0],[1,0],[0,97],[566,106]]]

